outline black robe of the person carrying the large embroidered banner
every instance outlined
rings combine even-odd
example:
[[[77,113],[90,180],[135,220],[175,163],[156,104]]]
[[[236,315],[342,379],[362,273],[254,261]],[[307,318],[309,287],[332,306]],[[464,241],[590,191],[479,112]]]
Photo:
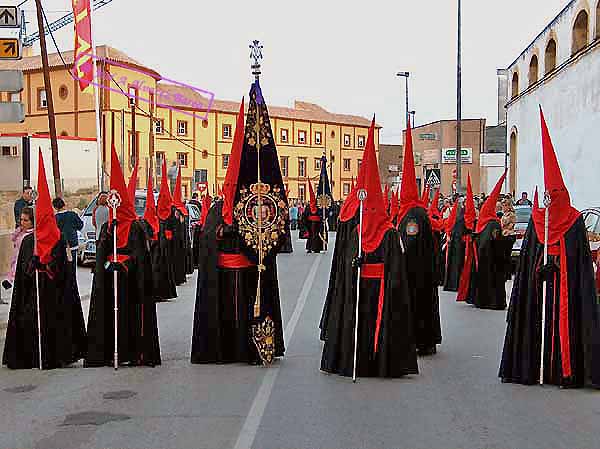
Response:
[[[251,326],[269,315],[275,325],[275,357],[285,352],[279,301],[277,264],[274,257],[264,261],[261,274],[261,312],[254,318],[254,299],[258,272],[256,266],[223,268],[219,252],[240,254],[240,237],[233,227],[224,225],[223,202],[208,212],[200,236],[198,284],[192,336],[192,363],[260,364],[251,338]]]

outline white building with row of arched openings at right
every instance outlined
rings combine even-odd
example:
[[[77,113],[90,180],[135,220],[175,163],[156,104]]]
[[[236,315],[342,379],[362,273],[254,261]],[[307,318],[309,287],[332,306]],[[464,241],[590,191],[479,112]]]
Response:
[[[570,1],[505,73],[511,190],[543,190],[541,105],[574,206],[600,206],[600,0]]]

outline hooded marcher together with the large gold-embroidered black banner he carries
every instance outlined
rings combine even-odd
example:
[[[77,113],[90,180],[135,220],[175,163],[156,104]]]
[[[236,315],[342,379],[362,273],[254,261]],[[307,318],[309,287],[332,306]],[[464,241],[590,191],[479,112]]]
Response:
[[[249,195],[257,194],[257,108],[261,115],[261,182],[273,192],[261,196],[261,209],[258,197]],[[270,202],[269,198],[275,198],[272,195],[279,195],[278,209],[275,202]],[[270,364],[285,352],[276,255],[289,212],[258,81],[250,91],[245,128],[244,102],[240,105],[223,196],[210,209],[200,237],[191,362]],[[256,236],[252,224],[258,219],[258,212],[262,219],[279,223],[276,230],[271,228],[270,234],[271,237],[276,234],[277,239],[271,241],[271,250],[263,253],[260,296],[259,257],[246,240]]]

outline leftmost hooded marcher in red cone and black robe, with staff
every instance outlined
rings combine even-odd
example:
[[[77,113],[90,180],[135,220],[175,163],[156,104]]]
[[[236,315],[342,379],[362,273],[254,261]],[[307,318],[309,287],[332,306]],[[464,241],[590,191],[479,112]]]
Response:
[[[71,285],[72,263],[56,224],[41,151],[38,157],[39,198],[34,212],[23,209],[36,228],[21,242],[8,316],[2,364],[11,369],[39,368],[39,278],[42,368],[67,366],[85,355],[86,334],[78,321],[83,315],[79,295]],[[35,222],[35,223],[34,223]],[[34,252],[37,239],[37,251]],[[77,296],[75,296],[77,294]],[[79,308],[77,308],[79,304]]]

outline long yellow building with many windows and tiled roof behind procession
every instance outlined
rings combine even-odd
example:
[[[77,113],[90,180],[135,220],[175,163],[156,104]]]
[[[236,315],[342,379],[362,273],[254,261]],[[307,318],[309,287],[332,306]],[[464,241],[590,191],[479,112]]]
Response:
[[[186,197],[196,190],[199,182],[207,182],[211,193],[220,186],[229,162],[239,103],[214,100],[206,111],[199,105],[206,105],[207,98],[191,88],[164,81],[155,70],[119,50],[102,46],[98,48],[98,56],[102,72],[99,82],[104,87],[100,89],[100,104],[105,173],[110,173],[110,146],[114,144],[122,162],[125,160],[125,175],[130,175],[135,160],[132,139],[135,128],[135,147],[140,155],[139,187],[145,187],[147,182],[151,142],[154,144],[154,167],[158,167],[159,179],[162,159],[166,158],[168,165],[177,161],[181,166]],[[57,133],[95,138],[94,96],[81,93],[78,81],[70,75],[73,52],[63,53],[63,59],[66,66],[58,54],[49,55]],[[0,101],[22,101],[26,111],[24,123],[0,124],[0,135],[47,134],[41,58],[33,56],[18,62],[1,62],[0,69],[23,70],[23,92],[12,98],[9,94],[0,93]],[[154,107],[154,93],[161,96],[160,103],[165,106]],[[265,93],[268,98],[268,87]],[[188,105],[174,100],[177,98],[186,99]],[[345,198],[352,179],[357,177],[370,120],[334,114],[316,104],[301,101],[296,101],[292,108],[268,105],[268,109],[289,197],[307,198],[307,178],[317,182],[320,158],[325,152],[328,161],[333,161],[328,168],[333,195],[336,199]],[[154,127],[151,130],[152,122]],[[375,134],[376,149],[380,128],[377,127]]]

